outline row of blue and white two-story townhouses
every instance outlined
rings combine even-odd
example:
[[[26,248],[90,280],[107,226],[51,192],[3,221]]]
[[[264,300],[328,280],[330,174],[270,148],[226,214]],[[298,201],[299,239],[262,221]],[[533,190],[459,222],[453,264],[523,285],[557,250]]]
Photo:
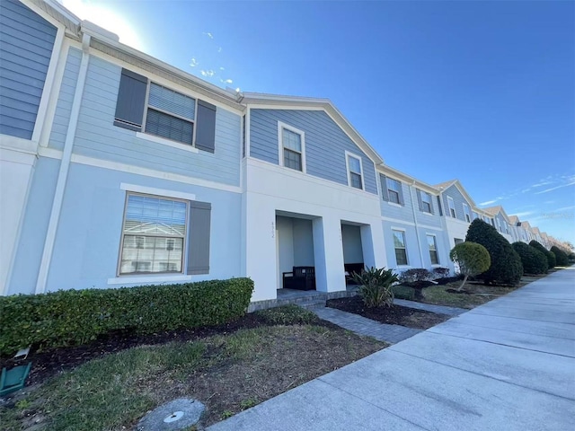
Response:
[[[54,0],[0,8],[0,294],[282,273],[451,268],[481,218],[553,239],[458,180],[384,163],[332,102],[224,91],[119,43]]]

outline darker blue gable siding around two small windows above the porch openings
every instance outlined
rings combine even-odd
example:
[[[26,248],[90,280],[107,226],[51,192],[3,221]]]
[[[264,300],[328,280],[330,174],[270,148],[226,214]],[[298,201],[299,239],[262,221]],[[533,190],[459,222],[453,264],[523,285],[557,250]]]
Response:
[[[365,188],[377,193],[374,163],[323,110],[258,110],[250,114],[250,155],[279,163],[278,121],[305,132],[309,175],[348,185],[345,152],[362,159]]]

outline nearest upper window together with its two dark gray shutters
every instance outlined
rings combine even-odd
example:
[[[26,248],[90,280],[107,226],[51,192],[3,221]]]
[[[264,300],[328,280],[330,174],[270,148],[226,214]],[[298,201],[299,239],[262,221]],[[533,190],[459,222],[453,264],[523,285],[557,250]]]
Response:
[[[114,125],[214,153],[216,106],[122,69]]]

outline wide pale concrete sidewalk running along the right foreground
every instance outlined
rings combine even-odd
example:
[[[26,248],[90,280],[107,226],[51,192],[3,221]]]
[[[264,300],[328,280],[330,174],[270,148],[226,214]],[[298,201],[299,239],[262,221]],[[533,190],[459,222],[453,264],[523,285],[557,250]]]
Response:
[[[573,424],[569,268],[208,429],[557,431]]]

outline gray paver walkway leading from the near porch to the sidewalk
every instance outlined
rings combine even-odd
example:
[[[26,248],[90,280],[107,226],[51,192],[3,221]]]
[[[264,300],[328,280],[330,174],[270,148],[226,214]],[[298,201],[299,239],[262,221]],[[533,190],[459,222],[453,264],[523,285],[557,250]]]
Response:
[[[388,325],[386,323],[372,321],[358,314],[342,312],[341,310],[330,307],[314,309],[312,312],[317,314],[320,319],[331,321],[341,326],[341,328],[353,330],[358,334],[367,335],[388,343],[399,343],[403,341],[403,339],[409,339],[421,332],[421,330],[406,328],[405,326]]]

